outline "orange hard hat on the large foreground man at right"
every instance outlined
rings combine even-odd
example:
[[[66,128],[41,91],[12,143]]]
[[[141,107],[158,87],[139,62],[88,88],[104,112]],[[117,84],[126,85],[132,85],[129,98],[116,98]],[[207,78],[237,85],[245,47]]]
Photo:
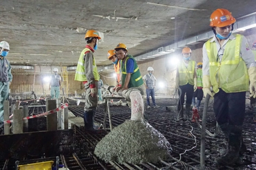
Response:
[[[226,9],[217,9],[211,14],[211,27],[226,27],[236,22],[236,19]]]

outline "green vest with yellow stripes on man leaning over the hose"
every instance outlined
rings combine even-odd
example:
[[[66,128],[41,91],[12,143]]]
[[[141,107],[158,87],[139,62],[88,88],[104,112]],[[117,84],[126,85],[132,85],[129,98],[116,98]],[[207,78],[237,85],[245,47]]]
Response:
[[[125,78],[126,78],[126,64],[129,58],[132,58],[133,62],[134,62],[134,70],[133,73],[131,74],[131,78],[128,84],[128,88],[131,87],[140,87],[143,85],[143,80],[142,80],[142,76],[140,74],[140,70],[139,67],[135,61],[135,59],[133,58],[133,56],[131,56],[130,54],[126,56],[125,58],[125,62],[123,64],[123,61],[121,61],[121,70],[122,70],[122,87],[124,87],[124,82],[125,82]]]

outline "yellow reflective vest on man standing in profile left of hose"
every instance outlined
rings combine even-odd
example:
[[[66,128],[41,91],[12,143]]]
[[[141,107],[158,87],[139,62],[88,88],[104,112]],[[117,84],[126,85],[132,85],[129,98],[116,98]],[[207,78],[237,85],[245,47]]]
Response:
[[[93,57],[92,66],[93,66],[94,80],[99,81],[100,75],[99,75],[98,70],[97,70],[96,61],[95,61],[95,58],[93,56],[92,51],[89,48],[85,48],[80,54],[80,57],[79,57],[79,60],[78,60],[78,63],[77,63],[77,67],[76,67],[75,80],[77,80],[77,81],[87,81],[87,78],[86,78],[86,75],[85,75],[85,68],[84,68],[84,55],[87,51],[90,51],[90,53],[92,54],[92,57]]]

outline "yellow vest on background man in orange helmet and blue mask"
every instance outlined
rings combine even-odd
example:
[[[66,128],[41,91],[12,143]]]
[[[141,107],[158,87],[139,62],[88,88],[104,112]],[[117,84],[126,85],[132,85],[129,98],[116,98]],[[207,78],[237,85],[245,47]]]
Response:
[[[179,75],[180,75],[179,86],[186,85],[187,83],[194,85],[195,64],[196,64],[195,61],[189,60],[188,66],[186,67],[183,61],[180,62],[178,66]]]

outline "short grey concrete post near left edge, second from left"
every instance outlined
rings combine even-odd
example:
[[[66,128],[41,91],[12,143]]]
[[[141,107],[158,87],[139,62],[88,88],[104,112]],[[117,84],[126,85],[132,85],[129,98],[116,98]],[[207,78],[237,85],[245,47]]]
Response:
[[[23,133],[23,111],[22,109],[18,109],[13,112],[13,134]]]

